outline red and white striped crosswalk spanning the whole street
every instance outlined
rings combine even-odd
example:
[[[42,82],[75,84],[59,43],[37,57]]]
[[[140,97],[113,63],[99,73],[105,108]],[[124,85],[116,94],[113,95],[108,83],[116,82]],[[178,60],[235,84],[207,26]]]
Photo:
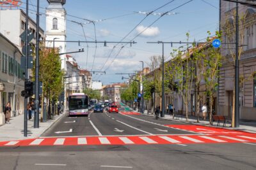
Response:
[[[68,146],[68,145],[168,145],[200,143],[256,143],[253,135],[154,135],[154,136],[86,136],[76,138],[36,138],[0,142],[0,146]]]

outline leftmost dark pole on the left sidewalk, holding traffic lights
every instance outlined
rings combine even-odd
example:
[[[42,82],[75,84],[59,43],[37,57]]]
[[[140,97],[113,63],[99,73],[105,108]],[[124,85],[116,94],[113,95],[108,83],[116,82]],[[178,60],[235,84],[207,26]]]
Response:
[[[24,89],[26,88],[26,81],[28,81],[28,0],[26,0],[26,56],[25,56],[25,82]],[[24,98],[24,136],[28,136],[28,114],[27,114],[27,97]]]

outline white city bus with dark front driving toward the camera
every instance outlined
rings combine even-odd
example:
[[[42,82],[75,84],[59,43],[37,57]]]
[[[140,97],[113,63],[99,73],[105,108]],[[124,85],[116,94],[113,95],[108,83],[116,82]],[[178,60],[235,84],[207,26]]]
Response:
[[[74,93],[68,96],[68,114],[88,116],[88,96],[84,93]]]

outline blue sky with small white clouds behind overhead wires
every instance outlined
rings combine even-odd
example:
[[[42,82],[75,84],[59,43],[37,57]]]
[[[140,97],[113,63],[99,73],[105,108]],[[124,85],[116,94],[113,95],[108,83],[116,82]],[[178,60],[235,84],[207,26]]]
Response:
[[[22,0],[24,1],[24,0]],[[87,18],[89,20],[104,20],[95,22],[97,41],[120,41],[128,32],[130,32],[145,15],[138,13],[139,11],[148,12],[163,6],[170,2],[169,0],[67,0],[65,9],[68,15]],[[175,0],[172,3],[157,10],[157,13],[164,13],[176,8],[180,4],[186,3],[188,0]],[[29,0],[29,3],[36,5],[36,1]],[[48,6],[47,1],[40,1],[40,11],[45,13],[44,8]],[[31,10],[36,7],[29,6]],[[103,44],[97,45],[95,63],[93,65],[93,56],[95,53],[95,43],[88,44],[88,63],[86,67],[86,44],[83,44],[85,52],[72,55],[78,62],[79,66],[91,71],[106,71],[106,75],[93,75],[94,80],[100,80],[105,85],[112,82],[122,82],[122,76],[115,73],[132,73],[141,69],[140,60],[144,61],[144,65],[150,63],[150,56],[161,55],[161,45],[147,44],[147,41],[185,41],[186,32],[189,31],[191,41],[204,39],[207,37],[207,31],[215,32],[218,30],[219,20],[219,0],[194,0],[190,3],[173,10],[175,15],[164,15],[152,27],[143,32],[141,36],[134,39],[135,45],[126,45],[120,51],[122,44],[116,46],[110,55],[108,62],[107,57],[115,44],[108,43],[107,47]],[[35,18],[35,13],[29,13],[30,17]],[[122,16],[125,15],[125,16]],[[122,17],[118,17],[122,16]],[[124,41],[130,41],[138,32],[148,25],[152,24],[159,16],[149,15],[139,27],[127,36]],[[76,22],[84,22],[84,20],[67,16],[68,20]],[[45,15],[40,18],[40,26],[45,29]],[[84,30],[87,40],[95,41],[94,27],[92,24],[85,24]],[[67,21],[67,40],[84,40],[81,25]],[[174,45],[177,48],[179,45]],[[170,59],[172,47],[165,45],[164,54],[166,59]],[[78,44],[67,43],[68,51],[75,51],[79,48]],[[119,55],[118,52],[120,51]],[[114,60],[114,57],[116,59]],[[113,60],[113,62],[111,62]],[[103,64],[106,65],[102,68]],[[102,69],[101,69],[102,68]],[[108,69],[107,69],[108,68]]]

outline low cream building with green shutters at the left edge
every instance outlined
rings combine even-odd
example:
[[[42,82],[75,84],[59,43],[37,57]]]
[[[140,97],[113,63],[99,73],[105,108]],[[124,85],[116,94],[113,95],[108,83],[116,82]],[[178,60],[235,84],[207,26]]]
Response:
[[[10,102],[11,117],[24,113],[24,74],[20,69],[19,48],[0,33],[0,125],[4,124],[3,109]]]

